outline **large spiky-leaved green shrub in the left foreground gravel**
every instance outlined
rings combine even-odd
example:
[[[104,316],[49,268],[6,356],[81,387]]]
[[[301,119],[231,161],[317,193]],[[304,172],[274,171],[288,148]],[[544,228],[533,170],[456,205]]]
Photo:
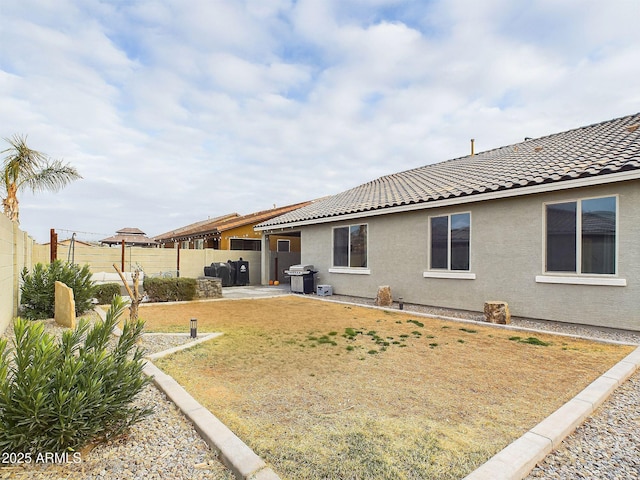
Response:
[[[60,340],[42,322],[14,321],[12,358],[0,341],[0,451],[75,451],[121,435],[151,413],[131,405],[150,382],[136,347],[144,322],[126,322],[108,348],[125,308],[115,297],[104,322],[89,328],[81,319]]]

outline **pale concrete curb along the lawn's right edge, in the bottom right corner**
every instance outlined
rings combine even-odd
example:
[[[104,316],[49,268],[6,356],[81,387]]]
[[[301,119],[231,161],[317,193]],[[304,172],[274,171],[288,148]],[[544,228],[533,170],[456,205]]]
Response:
[[[640,347],[572,400],[467,475],[464,480],[521,480],[640,367]]]

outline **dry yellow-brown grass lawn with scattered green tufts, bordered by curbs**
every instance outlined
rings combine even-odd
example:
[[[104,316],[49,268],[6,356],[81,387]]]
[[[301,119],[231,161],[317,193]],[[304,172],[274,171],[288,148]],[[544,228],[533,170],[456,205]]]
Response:
[[[289,479],[461,478],[632,350],[297,296],[140,316],[224,332],[157,364]]]

